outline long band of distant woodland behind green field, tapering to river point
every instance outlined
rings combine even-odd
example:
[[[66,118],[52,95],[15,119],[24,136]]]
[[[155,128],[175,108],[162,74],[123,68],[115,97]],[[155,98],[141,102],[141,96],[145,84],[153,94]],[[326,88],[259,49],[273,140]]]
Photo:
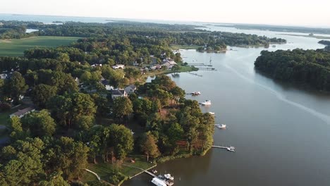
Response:
[[[15,29],[10,29],[10,27],[15,27]],[[34,28],[39,31],[26,34],[26,28]],[[197,30],[194,25],[167,25],[127,21],[106,24],[67,22],[63,23],[63,25],[44,25],[38,22],[4,22],[4,25],[0,26],[1,29],[6,30],[3,34],[0,33],[0,38],[2,39],[18,39],[35,35],[93,38],[114,35],[118,37],[136,37],[135,41],[142,42],[142,44],[148,41],[157,42],[157,44],[163,46],[169,46],[169,44],[197,45],[208,46],[210,49],[226,49],[227,45],[269,45],[271,42],[286,42],[285,39],[246,35],[243,33]]]

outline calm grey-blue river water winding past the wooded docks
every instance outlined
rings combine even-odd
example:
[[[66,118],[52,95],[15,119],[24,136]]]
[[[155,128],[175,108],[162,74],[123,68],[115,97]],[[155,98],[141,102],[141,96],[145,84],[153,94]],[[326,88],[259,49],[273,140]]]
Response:
[[[282,37],[276,49],[318,49],[319,39],[278,35],[279,32],[209,27],[208,30]],[[274,82],[254,70],[264,48],[237,48],[225,54],[182,50],[188,63],[209,63],[217,71],[198,77],[173,77],[186,92],[200,91],[197,101],[212,100],[203,111],[216,113],[214,144],[233,145],[236,152],[211,149],[205,156],[176,159],[157,166],[175,176],[175,185],[330,185],[330,97]],[[151,185],[142,174],[124,185]]]

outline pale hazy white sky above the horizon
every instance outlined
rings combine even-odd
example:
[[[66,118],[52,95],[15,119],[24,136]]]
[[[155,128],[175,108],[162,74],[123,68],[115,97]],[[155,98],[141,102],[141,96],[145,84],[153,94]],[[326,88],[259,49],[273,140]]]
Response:
[[[330,0],[1,0],[0,13],[330,27]]]

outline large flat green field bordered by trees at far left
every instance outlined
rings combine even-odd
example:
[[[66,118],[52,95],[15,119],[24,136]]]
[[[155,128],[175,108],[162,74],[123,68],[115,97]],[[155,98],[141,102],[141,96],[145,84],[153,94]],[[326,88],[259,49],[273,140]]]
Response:
[[[0,40],[0,56],[23,56],[23,52],[26,49],[68,45],[78,39],[79,37],[37,36],[24,39]]]

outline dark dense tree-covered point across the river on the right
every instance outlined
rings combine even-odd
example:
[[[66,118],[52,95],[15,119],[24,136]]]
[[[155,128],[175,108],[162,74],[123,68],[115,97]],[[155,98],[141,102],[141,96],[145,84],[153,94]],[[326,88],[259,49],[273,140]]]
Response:
[[[330,53],[318,50],[262,51],[255,68],[276,80],[330,91]]]

